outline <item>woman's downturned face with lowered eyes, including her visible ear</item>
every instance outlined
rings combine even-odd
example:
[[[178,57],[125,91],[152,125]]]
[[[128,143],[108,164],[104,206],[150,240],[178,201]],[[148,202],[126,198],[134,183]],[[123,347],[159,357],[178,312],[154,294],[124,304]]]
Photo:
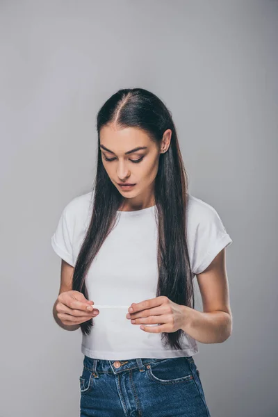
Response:
[[[159,156],[169,147],[171,133],[170,129],[165,131],[158,145],[145,131],[135,127],[117,129],[109,124],[101,128],[99,140],[104,168],[122,196],[133,199],[133,206],[152,200]],[[134,185],[121,187],[119,183]]]

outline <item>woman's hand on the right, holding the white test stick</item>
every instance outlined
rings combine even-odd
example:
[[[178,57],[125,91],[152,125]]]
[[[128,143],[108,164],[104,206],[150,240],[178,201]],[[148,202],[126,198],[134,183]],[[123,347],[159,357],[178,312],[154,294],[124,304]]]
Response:
[[[133,308],[131,312],[130,309]],[[172,333],[185,327],[190,320],[190,307],[176,304],[168,297],[151,298],[138,303],[132,303],[126,318],[131,318],[131,323],[140,325],[140,329],[149,333]],[[130,317],[129,317],[130,316]],[[142,325],[158,326],[142,326]]]

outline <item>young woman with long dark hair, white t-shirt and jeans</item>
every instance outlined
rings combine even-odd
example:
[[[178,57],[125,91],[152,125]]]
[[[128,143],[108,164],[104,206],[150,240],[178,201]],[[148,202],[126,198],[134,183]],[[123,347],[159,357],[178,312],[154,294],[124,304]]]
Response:
[[[97,133],[94,186],[65,206],[51,237],[62,258],[54,317],[82,332],[81,417],[210,416],[193,355],[197,341],[231,334],[232,240],[188,193],[172,115],[156,95],[119,90]]]

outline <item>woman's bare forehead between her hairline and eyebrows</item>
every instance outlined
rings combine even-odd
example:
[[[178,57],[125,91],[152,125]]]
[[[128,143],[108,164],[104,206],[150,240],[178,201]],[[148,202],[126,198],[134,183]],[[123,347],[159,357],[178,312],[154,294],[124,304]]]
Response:
[[[138,146],[154,146],[154,142],[150,136],[142,129],[137,127],[125,127],[117,129],[111,125],[101,127],[99,132],[100,144],[115,151],[129,151],[132,147]]]

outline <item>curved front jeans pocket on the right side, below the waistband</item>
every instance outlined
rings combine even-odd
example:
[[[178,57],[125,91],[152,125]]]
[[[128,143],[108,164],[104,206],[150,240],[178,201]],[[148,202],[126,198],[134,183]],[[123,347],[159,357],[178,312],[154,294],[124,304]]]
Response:
[[[162,359],[149,363],[147,376],[158,384],[193,383],[193,375],[185,357]]]

